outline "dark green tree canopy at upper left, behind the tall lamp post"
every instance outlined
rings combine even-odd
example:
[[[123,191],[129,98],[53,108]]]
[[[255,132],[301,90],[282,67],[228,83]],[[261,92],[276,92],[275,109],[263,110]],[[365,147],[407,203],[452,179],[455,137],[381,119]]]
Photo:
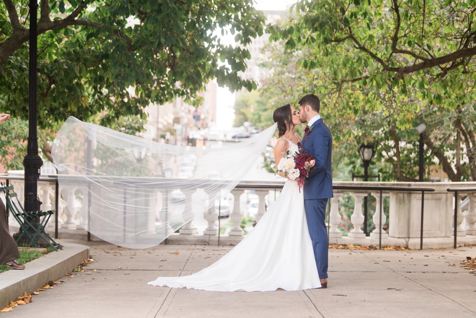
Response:
[[[19,25],[0,6],[0,106],[27,118],[29,12],[16,9]],[[263,21],[251,0],[50,1],[38,21],[38,125],[98,114],[105,125],[143,119],[143,107],[175,97],[199,105],[214,78],[252,90],[255,83],[238,76],[250,54],[241,46],[262,34]],[[219,28],[241,46],[223,43]]]

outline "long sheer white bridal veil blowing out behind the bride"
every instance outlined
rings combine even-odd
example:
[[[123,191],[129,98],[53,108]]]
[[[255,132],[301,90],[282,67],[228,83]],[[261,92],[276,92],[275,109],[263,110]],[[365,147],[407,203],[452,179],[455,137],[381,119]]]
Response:
[[[123,247],[147,248],[235,188],[275,129],[276,124],[245,141],[204,149],[147,141],[69,117],[51,155],[68,196],[66,208],[83,202],[77,217],[85,230]]]

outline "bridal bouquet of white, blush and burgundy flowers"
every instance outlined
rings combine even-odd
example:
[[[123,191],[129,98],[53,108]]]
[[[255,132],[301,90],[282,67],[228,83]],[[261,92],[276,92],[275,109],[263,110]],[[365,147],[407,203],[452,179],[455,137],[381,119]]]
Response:
[[[306,183],[306,177],[316,170],[316,160],[311,154],[302,154],[301,152],[290,153],[289,150],[278,164],[278,171],[284,172],[286,177],[296,180],[299,186],[299,192]]]

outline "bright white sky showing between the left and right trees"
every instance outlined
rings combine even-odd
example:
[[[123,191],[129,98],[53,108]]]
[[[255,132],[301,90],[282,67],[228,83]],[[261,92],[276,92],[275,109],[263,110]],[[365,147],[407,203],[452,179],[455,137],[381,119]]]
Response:
[[[287,7],[296,0],[255,0],[255,8],[258,10],[287,10]],[[217,129],[228,129],[233,126],[235,114],[235,94],[228,88],[217,89]]]

